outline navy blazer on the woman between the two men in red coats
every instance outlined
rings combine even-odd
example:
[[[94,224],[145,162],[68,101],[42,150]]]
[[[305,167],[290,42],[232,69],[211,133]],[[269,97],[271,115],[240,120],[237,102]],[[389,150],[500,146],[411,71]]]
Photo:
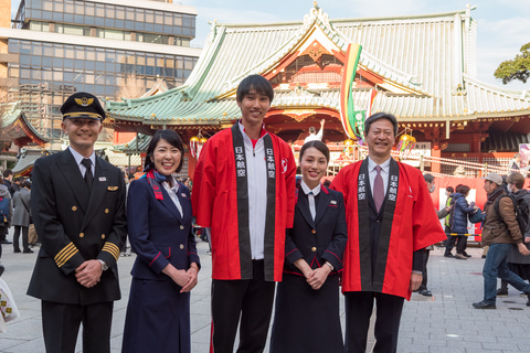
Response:
[[[321,186],[312,221],[307,196],[300,188],[297,193],[295,223],[286,233],[284,272],[301,275],[293,265],[299,258],[314,269],[329,261],[333,272],[340,271],[348,239],[342,194]]]

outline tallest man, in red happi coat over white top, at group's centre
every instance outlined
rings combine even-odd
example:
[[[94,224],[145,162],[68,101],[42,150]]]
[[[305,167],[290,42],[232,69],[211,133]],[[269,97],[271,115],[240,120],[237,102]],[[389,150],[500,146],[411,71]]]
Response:
[[[296,164],[289,146],[264,129],[274,90],[259,75],[243,79],[241,120],[203,147],[193,178],[197,224],[210,227],[210,352],[263,352],[282,280],[285,231],[293,227]]]

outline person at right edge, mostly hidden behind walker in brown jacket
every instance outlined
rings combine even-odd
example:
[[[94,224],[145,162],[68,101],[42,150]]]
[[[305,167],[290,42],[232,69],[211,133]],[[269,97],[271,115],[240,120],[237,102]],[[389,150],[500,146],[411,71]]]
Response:
[[[519,173],[508,175],[507,183],[510,196],[519,208],[518,220],[521,223],[526,221],[522,228],[521,223],[519,224],[519,228],[521,228],[524,245],[530,249],[530,192],[522,189],[524,178]],[[522,279],[530,280],[530,256],[521,255],[515,247],[508,254],[508,268]],[[506,280],[501,280],[501,286],[497,290],[497,297],[502,296],[508,296],[508,282]],[[530,307],[530,298],[527,301],[527,307]]]

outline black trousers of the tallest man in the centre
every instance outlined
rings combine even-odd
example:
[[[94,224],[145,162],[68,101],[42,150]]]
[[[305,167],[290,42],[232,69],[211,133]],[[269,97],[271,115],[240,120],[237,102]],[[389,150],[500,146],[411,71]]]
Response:
[[[263,260],[252,263],[253,279],[212,280],[210,352],[233,353],[240,317],[237,353],[259,353],[265,349],[276,284],[265,281]]]

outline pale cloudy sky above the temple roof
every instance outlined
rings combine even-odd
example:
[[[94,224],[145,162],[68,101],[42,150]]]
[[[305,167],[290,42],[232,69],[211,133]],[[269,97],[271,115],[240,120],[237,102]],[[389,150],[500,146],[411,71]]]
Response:
[[[19,0],[13,1],[12,12]],[[262,23],[301,21],[312,8],[312,0],[173,0],[193,6],[199,13],[193,46],[204,44],[210,31],[209,22]],[[318,6],[332,19],[363,17],[392,17],[447,12],[465,9],[467,2],[458,0],[320,0]],[[530,42],[530,0],[475,0],[471,17],[477,21],[478,78],[485,83],[511,89],[530,89],[530,82],[502,85],[494,77],[497,66],[519,53]],[[369,49],[367,49],[369,50]]]

